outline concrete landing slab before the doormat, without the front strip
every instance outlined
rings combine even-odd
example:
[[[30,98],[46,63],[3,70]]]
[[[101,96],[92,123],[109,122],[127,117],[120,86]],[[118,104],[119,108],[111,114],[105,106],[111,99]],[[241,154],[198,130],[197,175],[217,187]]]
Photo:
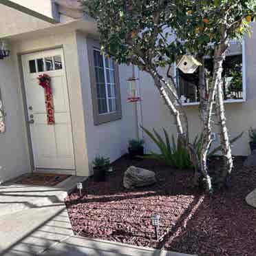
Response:
[[[73,235],[64,204],[76,182],[55,187],[7,183],[0,186],[0,255],[38,255]]]

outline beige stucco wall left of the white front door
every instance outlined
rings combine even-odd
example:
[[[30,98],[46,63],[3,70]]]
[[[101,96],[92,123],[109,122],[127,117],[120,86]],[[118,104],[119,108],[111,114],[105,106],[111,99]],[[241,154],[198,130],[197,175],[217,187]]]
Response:
[[[0,184],[30,172],[21,89],[14,58],[0,60],[0,88],[6,111],[6,133],[0,135]]]

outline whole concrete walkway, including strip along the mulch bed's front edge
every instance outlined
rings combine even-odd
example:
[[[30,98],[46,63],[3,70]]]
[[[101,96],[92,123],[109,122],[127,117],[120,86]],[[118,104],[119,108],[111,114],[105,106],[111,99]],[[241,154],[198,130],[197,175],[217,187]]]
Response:
[[[1,256],[185,256],[73,235],[63,202],[77,178],[58,187],[0,186]]]

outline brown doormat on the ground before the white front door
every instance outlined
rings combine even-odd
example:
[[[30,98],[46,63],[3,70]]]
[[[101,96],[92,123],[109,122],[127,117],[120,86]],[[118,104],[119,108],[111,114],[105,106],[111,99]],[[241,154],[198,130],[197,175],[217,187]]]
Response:
[[[53,173],[31,173],[18,178],[15,183],[38,186],[55,186],[71,175]]]

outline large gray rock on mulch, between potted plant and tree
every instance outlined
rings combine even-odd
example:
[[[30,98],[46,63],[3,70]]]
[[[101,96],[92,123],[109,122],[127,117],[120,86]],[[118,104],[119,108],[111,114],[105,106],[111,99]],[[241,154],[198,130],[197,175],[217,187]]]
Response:
[[[156,183],[156,174],[153,171],[134,166],[129,167],[125,171],[123,185],[126,189],[149,186],[154,183]]]

